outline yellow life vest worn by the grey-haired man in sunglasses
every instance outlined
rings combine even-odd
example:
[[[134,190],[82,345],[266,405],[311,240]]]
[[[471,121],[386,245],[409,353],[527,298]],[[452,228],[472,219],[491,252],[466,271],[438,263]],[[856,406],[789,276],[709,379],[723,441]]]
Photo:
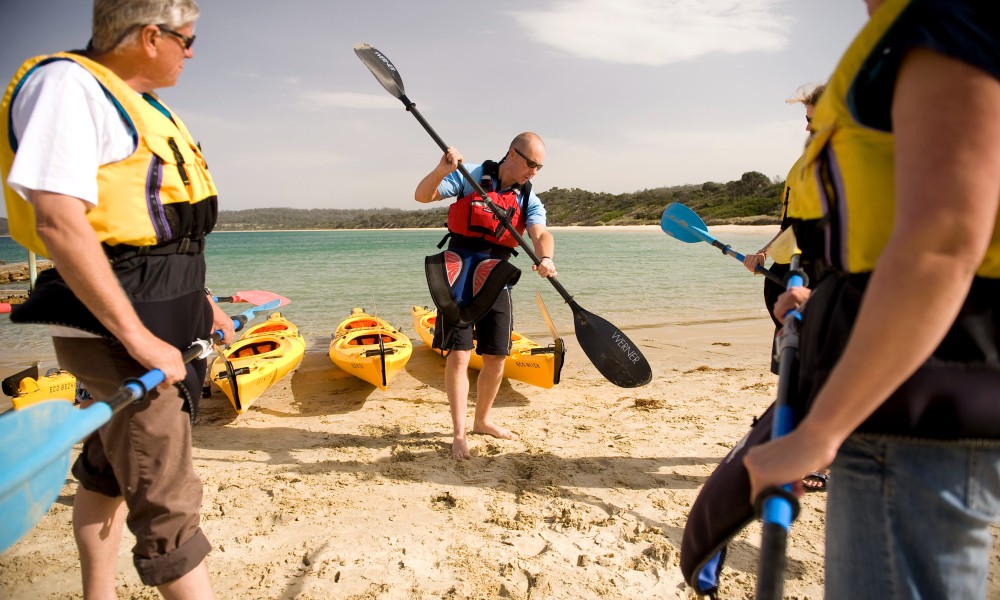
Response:
[[[31,203],[10,189],[6,179],[17,150],[10,131],[11,105],[32,69],[54,60],[71,60],[87,69],[137,136],[136,149],[129,157],[101,165],[97,171],[99,202],[87,213],[87,220],[98,239],[109,246],[157,246],[185,237],[201,238],[211,231],[217,191],[201,149],[184,123],[155,108],[110,69],[79,54],[59,52],[21,65],[0,101],[0,170],[11,237],[36,254],[48,256],[35,231]],[[206,200],[209,204],[195,208]]]

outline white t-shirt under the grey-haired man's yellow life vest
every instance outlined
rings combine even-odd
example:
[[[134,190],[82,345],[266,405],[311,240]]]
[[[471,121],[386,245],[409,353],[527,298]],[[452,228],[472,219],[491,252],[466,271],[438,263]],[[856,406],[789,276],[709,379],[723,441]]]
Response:
[[[69,60],[36,69],[11,109],[17,154],[7,185],[97,199],[97,169],[135,151],[132,134],[94,76]]]

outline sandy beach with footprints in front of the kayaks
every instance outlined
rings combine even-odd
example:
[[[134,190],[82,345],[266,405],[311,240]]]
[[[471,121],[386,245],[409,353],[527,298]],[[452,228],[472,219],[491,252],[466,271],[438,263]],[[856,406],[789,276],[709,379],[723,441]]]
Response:
[[[219,598],[687,598],[688,507],[771,402],[770,321],[627,331],[654,369],[617,388],[576,340],[551,390],[506,382],[496,418],[450,458],[443,364],[415,348],[381,392],[314,344],[241,416],[218,391],[194,430]],[[471,417],[470,417],[471,419]],[[0,597],[78,598],[68,476],[40,524],[0,555]],[[803,499],[786,593],[822,597],[823,494]],[[132,566],[121,598],[156,598]],[[759,528],[731,546],[725,598],[753,594]],[[997,588],[1000,589],[1000,588]]]

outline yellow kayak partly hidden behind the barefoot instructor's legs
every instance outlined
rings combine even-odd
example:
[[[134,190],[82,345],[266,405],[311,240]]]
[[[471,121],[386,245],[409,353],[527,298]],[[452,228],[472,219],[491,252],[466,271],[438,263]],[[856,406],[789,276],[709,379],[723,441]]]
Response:
[[[413,326],[420,334],[424,345],[443,356],[444,353],[441,350],[431,347],[434,340],[437,309],[414,306],[410,310],[413,315]],[[554,344],[542,346],[515,331],[511,333],[511,351],[507,360],[504,361],[503,374],[509,379],[516,379],[542,388],[550,388],[559,383],[559,374],[562,371],[565,355],[566,346],[561,338],[556,339]],[[473,352],[469,358],[469,366],[481,370],[483,357]]]

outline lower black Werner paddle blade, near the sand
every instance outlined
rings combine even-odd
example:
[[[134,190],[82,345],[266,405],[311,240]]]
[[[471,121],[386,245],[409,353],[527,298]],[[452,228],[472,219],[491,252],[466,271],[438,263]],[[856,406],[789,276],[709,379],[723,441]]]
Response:
[[[639,347],[620,329],[569,303],[576,323],[576,340],[604,378],[618,387],[639,387],[653,380],[653,371]]]

